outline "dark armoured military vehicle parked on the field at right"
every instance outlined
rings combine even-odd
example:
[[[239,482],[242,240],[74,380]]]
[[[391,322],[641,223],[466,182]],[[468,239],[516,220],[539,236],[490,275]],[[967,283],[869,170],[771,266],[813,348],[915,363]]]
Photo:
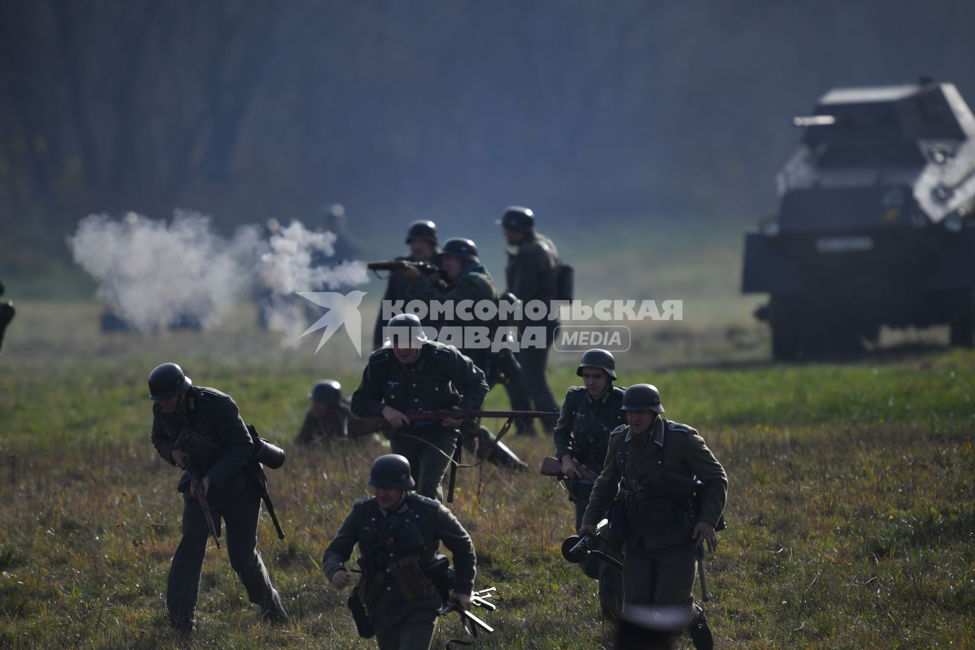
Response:
[[[745,238],[773,357],[855,352],[880,325],[948,324],[971,347],[975,118],[955,85],[839,88],[793,123],[778,214]]]

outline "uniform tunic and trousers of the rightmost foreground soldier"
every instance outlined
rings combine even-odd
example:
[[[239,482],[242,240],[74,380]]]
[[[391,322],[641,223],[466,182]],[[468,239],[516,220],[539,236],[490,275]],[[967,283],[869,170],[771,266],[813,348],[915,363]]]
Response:
[[[583,523],[596,525],[605,516],[621,481],[631,493],[637,493],[630,497],[625,526],[626,602],[692,605],[695,546],[683,517],[687,506],[656,494],[654,480],[666,471],[703,481],[699,518],[715,525],[727,496],[721,463],[696,430],[663,417],[657,417],[644,437],[634,436],[629,426],[616,429],[606,461]]]

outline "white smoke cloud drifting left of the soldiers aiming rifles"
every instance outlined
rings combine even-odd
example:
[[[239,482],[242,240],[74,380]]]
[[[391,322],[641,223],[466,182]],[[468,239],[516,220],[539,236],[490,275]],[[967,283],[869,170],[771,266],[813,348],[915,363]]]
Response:
[[[98,281],[98,296],[142,331],[177,319],[215,328],[238,301],[255,297],[268,326],[296,344],[305,325],[303,313],[295,311],[294,291],[337,290],[368,281],[362,262],[330,265],[332,233],[312,232],[293,221],[269,239],[262,234],[246,226],[227,240],[215,234],[209,217],[188,210],[176,210],[169,223],[134,212],[122,221],[92,214],[81,220],[68,246]]]

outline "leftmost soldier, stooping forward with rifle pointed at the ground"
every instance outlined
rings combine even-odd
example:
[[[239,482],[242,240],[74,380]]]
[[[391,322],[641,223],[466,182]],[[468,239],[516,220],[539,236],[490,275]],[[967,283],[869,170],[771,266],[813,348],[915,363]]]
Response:
[[[288,614],[271,587],[264,563],[256,550],[257,516],[264,492],[253,460],[254,440],[230,396],[213,388],[193,386],[176,363],[163,363],[149,374],[152,405],[152,443],[166,462],[186,467],[192,462],[201,478],[211,514],[219,528],[226,527],[230,566],[240,577],[251,602],[258,605],[265,621],[285,622]],[[176,440],[184,429],[213,440],[222,448],[212,463],[190,459]],[[180,632],[193,630],[200,571],[207,552],[210,529],[184,472],[176,489],[183,496],[182,539],[173,555],[166,607],[170,622]]]

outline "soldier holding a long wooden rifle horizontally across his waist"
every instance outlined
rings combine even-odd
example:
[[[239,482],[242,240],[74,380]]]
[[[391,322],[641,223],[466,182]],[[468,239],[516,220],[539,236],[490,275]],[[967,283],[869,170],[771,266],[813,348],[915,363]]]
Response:
[[[429,340],[412,314],[394,316],[388,326],[390,345],[370,355],[352,412],[386,418],[398,430],[390,449],[409,459],[416,491],[441,499],[461,420],[410,422],[404,411],[479,410],[487,396],[485,373],[456,348]]]

